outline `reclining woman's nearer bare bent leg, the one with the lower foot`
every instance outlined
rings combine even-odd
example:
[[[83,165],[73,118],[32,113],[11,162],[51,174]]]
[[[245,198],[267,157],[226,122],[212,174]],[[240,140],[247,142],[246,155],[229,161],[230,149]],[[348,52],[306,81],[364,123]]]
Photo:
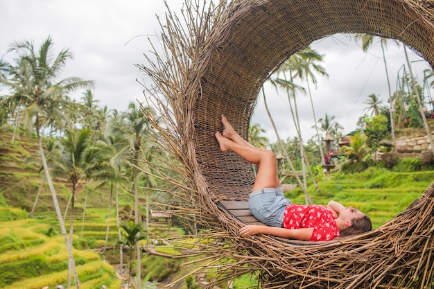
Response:
[[[246,161],[258,165],[258,173],[252,191],[280,186],[279,179],[277,179],[276,158],[272,151],[236,143],[223,137],[220,132],[216,132],[215,135],[222,152],[232,150]]]

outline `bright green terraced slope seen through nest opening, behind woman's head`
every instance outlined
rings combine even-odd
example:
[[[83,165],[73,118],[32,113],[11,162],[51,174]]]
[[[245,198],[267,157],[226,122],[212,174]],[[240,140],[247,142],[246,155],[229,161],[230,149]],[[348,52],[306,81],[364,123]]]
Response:
[[[374,228],[394,218],[422,193],[434,180],[434,171],[393,173],[385,169],[370,168],[352,175],[331,175],[320,182],[318,193],[313,186],[309,195],[315,204],[336,200],[353,206],[372,219]],[[304,194],[295,190],[287,194],[295,203],[304,203]]]

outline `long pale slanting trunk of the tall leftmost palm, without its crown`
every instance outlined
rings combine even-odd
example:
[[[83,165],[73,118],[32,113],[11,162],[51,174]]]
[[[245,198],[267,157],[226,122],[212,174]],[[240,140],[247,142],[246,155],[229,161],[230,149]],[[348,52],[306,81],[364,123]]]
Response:
[[[60,225],[60,231],[62,232],[62,236],[64,238],[64,243],[67,246],[68,263],[71,264],[71,268],[72,268],[72,271],[73,271],[73,279],[74,279],[74,283],[76,285],[76,289],[80,289],[80,280],[78,280],[78,274],[77,274],[77,270],[76,270],[76,263],[75,263],[75,261],[73,259],[73,255],[72,255],[72,247],[71,247],[71,245],[68,242],[67,229],[64,227],[62,213],[60,212],[60,206],[59,206],[59,202],[58,202],[58,196],[55,194],[53,182],[51,181],[49,167],[46,164],[46,159],[45,159],[45,155],[44,155],[44,148],[42,147],[42,140],[41,140],[41,137],[39,135],[39,130],[37,130],[37,144],[40,147],[40,156],[41,156],[41,160],[42,160],[42,166],[44,167],[46,182],[49,185],[49,189],[50,189],[50,192],[51,192],[51,197],[53,198],[53,204],[54,204],[55,212],[56,212],[56,214],[58,216],[58,222],[59,222],[59,225]]]

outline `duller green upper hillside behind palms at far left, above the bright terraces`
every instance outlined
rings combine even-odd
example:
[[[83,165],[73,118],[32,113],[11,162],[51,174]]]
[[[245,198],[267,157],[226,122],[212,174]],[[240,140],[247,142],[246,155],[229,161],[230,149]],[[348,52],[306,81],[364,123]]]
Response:
[[[31,212],[40,190],[35,214],[54,213],[53,200],[44,181],[44,173],[39,173],[40,156],[36,139],[19,132],[12,143],[12,133],[12,130],[0,132],[0,206]],[[64,211],[71,195],[71,186],[66,179],[53,178],[53,183],[60,208]],[[89,195],[87,207],[108,207],[110,186],[95,189],[96,186],[96,183],[78,186],[76,194],[78,213],[83,210],[86,193]],[[124,202],[132,201],[131,196],[125,192],[121,194],[121,198]]]

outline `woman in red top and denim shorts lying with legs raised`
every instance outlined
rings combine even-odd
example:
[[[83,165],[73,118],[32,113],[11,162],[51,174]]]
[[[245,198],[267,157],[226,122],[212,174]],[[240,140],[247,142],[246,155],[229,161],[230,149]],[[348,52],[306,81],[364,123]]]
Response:
[[[263,225],[247,225],[241,236],[269,234],[296,240],[332,240],[338,236],[361,234],[372,229],[370,218],[353,207],[330,201],[326,206],[292,204],[284,198],[277,177],[276,158],[272,151],[255,148],[240,137],[222,115],[223,133],[216,132],[220,150],[232,150],[246,161],[257,165],[257,177],[249,207]]]

